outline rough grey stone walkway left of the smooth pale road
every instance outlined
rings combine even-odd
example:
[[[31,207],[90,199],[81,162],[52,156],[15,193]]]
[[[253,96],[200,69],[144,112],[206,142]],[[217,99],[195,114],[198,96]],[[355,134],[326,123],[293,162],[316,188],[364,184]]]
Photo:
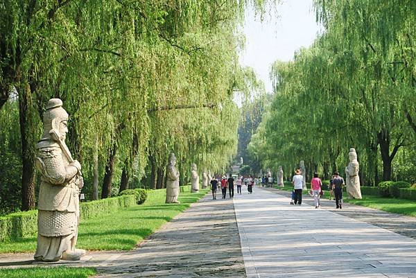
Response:
[[[83,261],[52,265],[96,267],[98,277],[245,277],[233,202],[211,200],[211,194],[135,250],[87,252]],[[0,268],[33,266],[39,266],[33,264],[33,254],[0,255]]]

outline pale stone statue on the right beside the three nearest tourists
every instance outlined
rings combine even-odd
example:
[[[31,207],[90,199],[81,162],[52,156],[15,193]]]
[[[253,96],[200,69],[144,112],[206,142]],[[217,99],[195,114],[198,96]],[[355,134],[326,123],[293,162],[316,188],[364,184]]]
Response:
[[[349,164],[345,167],[345,180],[347,193],[354,199],[361,199],[360,177],[358,177],[359,164],[357,153],[354,148],[349,149]]]

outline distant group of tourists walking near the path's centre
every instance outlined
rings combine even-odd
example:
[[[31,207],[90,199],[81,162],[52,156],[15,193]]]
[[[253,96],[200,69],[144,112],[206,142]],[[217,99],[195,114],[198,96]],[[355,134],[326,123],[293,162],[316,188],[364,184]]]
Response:
[[[213,177],[211,179],[211,191],[212,191],[212,200],[216,200],[216,192],[218,191],[218,187],[221,188],[221,192],[223,193],[223,199],[227,197],[227,189],[229,192],[229,198],[234,198],[234,182],[237,186],[237,194],[241,194],[241,186],[243,184],[247,186],[248,193],[252,194],[253,192],[253,186],[254,186],[254,180],[251,175],[249,175],[246,178],[243,178],[243,176],[239,176],[234,180],[234,177],[232,175],[223,175],[220,179],[217,179],[216,177]]]

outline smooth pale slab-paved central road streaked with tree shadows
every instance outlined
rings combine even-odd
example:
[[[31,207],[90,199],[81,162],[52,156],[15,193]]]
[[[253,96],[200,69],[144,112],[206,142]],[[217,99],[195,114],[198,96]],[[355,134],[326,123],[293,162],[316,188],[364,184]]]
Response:
[[[247,277],[416,277],[416,241],[256,188],[234,199]]]

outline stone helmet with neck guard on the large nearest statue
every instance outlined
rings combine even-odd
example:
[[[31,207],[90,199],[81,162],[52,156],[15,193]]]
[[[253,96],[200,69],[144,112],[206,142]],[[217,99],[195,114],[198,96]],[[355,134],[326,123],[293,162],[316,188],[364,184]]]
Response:
[[[44,137],[50,137],[49,131],[59,130],[62,121],[67,121],[68,113],[62,108],[62,101],[59,98],[51,98],[46,104],[44,112]]]

